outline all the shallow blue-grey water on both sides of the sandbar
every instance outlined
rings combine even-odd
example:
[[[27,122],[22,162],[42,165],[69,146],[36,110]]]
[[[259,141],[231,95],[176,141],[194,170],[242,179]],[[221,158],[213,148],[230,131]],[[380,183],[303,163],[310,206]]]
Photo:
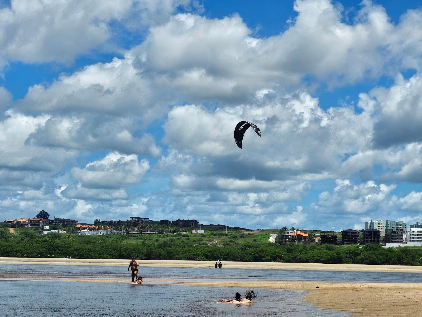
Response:
[[[128,263],[129,264],[129,263]],[[215,303],[244,288],[187,286],[187,281],[327,281],[411,283],[422,273],[140,267],[143,285],[130,284],[127,266],[0,265],[0,316],[333,316],[302,301],[302,290],[256,289],[252,306]],[[70,279],[118,280],[91,283]],[[36,281],[31,281],[36,280]],[[127,282],[126,282],[127,281]]]

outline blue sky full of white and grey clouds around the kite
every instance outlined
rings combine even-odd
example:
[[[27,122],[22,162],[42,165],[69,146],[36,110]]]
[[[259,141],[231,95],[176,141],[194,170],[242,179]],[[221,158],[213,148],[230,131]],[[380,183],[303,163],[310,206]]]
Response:
[[[417,1],[36,3],[0,9],[3,218],[422,220]]]

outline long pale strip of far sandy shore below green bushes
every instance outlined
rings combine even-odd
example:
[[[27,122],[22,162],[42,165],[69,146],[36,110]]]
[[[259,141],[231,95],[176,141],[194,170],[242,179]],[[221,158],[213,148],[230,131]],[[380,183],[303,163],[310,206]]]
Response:
[[[101,259],[57,259],[57,258],[20,258],[0,257],[0,264],[39,264],[39,265],[128,265],[130,260]],[[140,266],[214,268],[215,261],[171,261],[138,260]],[[368,271],[422,273],[422,266],[410,265],[358,265],[324,263],[275,263],[275,262],[223,262],[223,268],[254,268],[276,270],[319,270],[319,271]]]

